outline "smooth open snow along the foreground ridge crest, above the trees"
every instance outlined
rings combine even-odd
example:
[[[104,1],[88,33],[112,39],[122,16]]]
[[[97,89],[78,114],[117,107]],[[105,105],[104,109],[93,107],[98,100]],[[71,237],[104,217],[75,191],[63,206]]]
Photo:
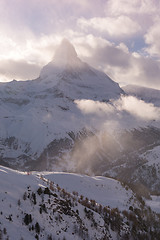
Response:
[[[46,184],[41,179],[50,180],[64,188],[67,192],[78,192],[88,199],[93,199],[103,206],[126,209],[126,206],[134,205],[136,198],[127,187],[123,187],[117,180],[106,177],[90,177],[73,173],[47,173],[47,172],[19,172],[0,166],[0,189],[8,192],[9,200],[17,203],[18,197],[23,195],[27,186],[37,187]],[[4,195],[5,196],[5,195]],[[138,203],[137,203],[138,204]]]

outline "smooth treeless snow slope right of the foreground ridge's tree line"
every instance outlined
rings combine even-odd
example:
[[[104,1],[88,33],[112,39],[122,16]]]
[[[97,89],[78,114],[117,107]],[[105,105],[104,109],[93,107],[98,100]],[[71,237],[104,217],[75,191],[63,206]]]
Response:
[[[78,195],[94,199],[97,203],[111,208],[126,209],[134,206],[135,196],[121,183],[112,178],[90,177],[71,173],[48,173],[44,177],[57,183],[67,192],[77,191]]]

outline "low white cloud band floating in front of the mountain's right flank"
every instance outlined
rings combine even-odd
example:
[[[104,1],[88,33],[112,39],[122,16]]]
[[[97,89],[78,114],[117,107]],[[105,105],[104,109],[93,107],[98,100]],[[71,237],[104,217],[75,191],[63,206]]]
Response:
[[[75,103],[83,114],[95,114],[98,117],[103,117],[105,122],[108,119],[116,120],[118,123],[122,122],[126,115],[123,113],[123,116],[120,113],[124,111],[137,120],[160,120],[160,108],[133,96],[122,96],[118,100],[113,100],[110,104],[85,99],[76,100]]]

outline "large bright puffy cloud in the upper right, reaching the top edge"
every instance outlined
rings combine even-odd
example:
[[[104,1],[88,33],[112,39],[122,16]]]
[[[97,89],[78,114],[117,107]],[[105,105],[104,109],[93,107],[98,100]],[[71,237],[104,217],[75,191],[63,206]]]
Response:
[[[159,16],[159,9],[160,2],[156,0],[108,0],[101,16],[81,17],[77,23],[86,32],[107,34],[111,39],[143,38]]]

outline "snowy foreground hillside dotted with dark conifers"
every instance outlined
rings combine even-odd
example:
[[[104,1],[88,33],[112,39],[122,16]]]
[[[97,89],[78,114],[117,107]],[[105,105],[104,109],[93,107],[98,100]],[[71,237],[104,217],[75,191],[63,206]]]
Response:
[[[0,166],[0,183],[1,239],[158,239],[158,216],[116,180]]]

